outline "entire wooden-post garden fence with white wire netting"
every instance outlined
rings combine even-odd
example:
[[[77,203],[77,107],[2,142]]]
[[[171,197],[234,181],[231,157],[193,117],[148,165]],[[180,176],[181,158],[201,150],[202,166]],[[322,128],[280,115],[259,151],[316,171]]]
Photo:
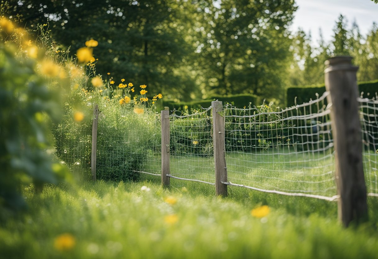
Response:
[[[217,195],[223,196],[228,186],[238,186],[338,201],[340,219],[348,225],[353,215],[367,213],[367,195],[378,197],[378,98],[357,97],[355,72],[349,58],[330,59],[327,91],[278,112],[269,105],[239,109],[220,101],[193,114],[166,107],[154,122],[161,139],[144,140],[142,129],[125,133],[128,140],[147,141],[148,154],[133,156],[130,150],[135,147],[122,134],[92,147],[93,179],[96,171],[134,161],[143,166],[131,169],[133,173],[161,176],[164,186],[176,178],[214,185]],[[116,156],[122,161],[114,161],[107,145],[130,150]],[[114,152],[122,149],[115,147]],[[96,154],[109,161],[96,162]]]

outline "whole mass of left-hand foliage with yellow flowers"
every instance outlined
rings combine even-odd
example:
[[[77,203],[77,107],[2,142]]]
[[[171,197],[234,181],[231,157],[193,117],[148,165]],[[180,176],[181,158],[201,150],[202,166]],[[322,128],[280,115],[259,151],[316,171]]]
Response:
[[[71,182],[72,165],[84,165],[80,173],[90,169],[94,104],[102,112],[98,179],[135,180],[134,170],[152,154],[151,139],[159,141],[155,103],[163,95],[96,73],[94,39],[68,58],[69,50],[54,48],[46,27],[37,25],[39,37],[31,39],[0,18],[0,207],[6,211],[26,207],[25,186],[41,192],[46,183]]]

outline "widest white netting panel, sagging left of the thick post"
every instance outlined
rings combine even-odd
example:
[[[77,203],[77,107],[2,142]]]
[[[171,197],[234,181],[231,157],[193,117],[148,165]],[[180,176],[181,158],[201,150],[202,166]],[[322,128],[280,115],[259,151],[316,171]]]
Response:
[[[273,112],[225,107],[228,181],[261,190],[336,195],[327,94]]]

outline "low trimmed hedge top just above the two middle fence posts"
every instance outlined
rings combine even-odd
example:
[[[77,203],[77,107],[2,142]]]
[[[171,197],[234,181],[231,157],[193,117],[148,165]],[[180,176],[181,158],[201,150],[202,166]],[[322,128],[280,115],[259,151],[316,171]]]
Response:
[[[260,100],[256,95],[251,94],[235,94],[235,95],[213,95],[207,100],[200,100],[200,101],[188,101],[188,102],[174,102],[174,101],[163,101],[163,106],[168,106],[170,110],[176,109],[178,111],[183,111],[186,109],[201,109],[208,108],[211,106],[212,101],[222,101],[223,104],[230,103],[237,108],[248,107],[251,105],[260,105]]]

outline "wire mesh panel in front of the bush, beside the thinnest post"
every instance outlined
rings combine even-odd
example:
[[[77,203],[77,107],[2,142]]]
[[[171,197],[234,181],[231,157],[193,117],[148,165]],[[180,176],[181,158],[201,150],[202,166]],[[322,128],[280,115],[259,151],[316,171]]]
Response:
[[[96,172],[100,179],[138,180],[161,174],[161,122],[158,114],[127,113],[115,126],[100,114]],[[118,124],[118,125],[117,125]],[[113,130],[115,134],[108,134]]]

